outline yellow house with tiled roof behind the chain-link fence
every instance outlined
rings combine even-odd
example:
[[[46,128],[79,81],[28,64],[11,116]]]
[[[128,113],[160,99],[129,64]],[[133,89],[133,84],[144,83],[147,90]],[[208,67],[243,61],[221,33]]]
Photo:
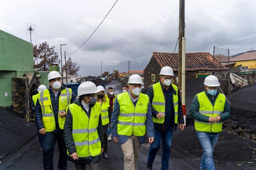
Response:
[[[231,57],[226,55],[215,55],[214,58],[219,60],[222,65],[227,67],[230,65],[230,68],[242,65],[241,71],[256,69],[256,51],[242,52]]]

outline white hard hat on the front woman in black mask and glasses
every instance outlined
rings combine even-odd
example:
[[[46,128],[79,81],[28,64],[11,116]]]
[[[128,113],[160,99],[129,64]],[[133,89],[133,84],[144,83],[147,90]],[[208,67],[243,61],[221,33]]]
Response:
[[[98,92],[99,90],[97,89],[96,85],[90,81],[83,82],[78,86],[78,89],[77,89],[78,96],[85,95],[85,94],[93,94]]]

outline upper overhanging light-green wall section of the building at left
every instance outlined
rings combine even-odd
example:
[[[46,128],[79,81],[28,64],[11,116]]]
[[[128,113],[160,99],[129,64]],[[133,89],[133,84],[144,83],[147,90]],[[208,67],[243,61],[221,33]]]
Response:
[[[0,30],[0,70],[33,72],[33,44]]]

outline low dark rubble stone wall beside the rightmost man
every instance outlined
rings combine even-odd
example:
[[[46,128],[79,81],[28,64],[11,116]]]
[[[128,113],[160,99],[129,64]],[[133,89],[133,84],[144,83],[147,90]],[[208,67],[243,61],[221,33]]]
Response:
[[[227,119],[223,123],[223,129],[236,133],[245,139],[256,140],[256,129],[253,129],[252,126],[244,125],[231,119]]]

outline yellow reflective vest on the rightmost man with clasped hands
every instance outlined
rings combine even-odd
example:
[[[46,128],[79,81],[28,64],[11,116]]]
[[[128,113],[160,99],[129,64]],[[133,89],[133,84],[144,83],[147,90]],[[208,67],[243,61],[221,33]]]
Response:
[[[199,113],[206,116],[215,117],[223,113],[226,97],[219,93],[214,103],[214,106],[209,101],[206,93],[203,91],[197,94],[198,102],[200,104]],[[200,132],[221,132],[222,122],[201,122],[195,119],[195,129]]]

